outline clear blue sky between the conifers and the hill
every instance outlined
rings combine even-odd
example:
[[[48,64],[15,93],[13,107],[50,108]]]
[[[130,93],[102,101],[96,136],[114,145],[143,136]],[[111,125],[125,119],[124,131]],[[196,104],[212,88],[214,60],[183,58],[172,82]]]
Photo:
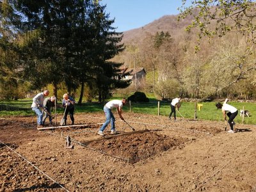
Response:
[[[164,15],[177,15],[181,0],[100,0],[106,4],[106,12],[110,18],[115,18],[113,27],[116,31],[128,31],[140,28],[146,24],[163,17]]]

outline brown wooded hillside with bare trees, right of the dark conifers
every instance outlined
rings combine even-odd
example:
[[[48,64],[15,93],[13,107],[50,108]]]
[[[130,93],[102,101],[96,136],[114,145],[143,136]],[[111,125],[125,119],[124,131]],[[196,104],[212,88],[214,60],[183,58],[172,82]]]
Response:
[[[255,63],[255,54],[246,52],[246,38],[234,31],[223,37],[202,36],[198,41],[198,29],[186,30],[193,17],[179,21],[178,17],[166,15],[124,32],[125,51],[114,60],[146,69],[146,83],[140,90],[155,92],[161,99],[177,94],[198,99],[255,99],[255,70],[251,75],[246,72]],[[211,23],[210,28],[215,24]]]

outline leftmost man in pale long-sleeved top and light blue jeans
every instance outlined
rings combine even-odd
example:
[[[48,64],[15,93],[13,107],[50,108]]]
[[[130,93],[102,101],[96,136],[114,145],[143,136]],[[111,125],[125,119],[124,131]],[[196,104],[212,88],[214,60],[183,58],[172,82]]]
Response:
[[[37,115],[37,127],[44,127],[43,116],[44,113],[41,111],[44,108],[44,98],[49,95],[49,90],[44,90],[42,93],[38,93],[34,98],[31,105],[31,109],[35,111]]]

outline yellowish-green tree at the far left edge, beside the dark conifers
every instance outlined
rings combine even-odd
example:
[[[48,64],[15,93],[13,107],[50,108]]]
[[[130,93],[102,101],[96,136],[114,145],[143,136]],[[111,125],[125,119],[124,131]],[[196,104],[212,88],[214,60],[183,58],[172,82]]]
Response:
[[[20,76],[20,38],[16,27],[20,18],[8,1],[0,2],[0,99],[19,99],[28,86]]]

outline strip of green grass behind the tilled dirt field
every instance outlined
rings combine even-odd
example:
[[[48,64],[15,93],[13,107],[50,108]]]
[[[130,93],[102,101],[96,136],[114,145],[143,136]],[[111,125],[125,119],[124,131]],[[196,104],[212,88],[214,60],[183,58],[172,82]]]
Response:
[[[115,97],[113,99],[121,99],[121,97]],[[31,110],[32,99],[22,99],[17,101],[0,101],[0,116],[9,116],[9,115],[35,115]],[[249,102],[228,102],[230,105],[234,106],[240,112],[240,109],[249,110],[250,117],[244,117],[244,124],[256,124],[256,104]],[[197,119],[203,120],[217,120],[223,121],[223,115],[221,110],[216,108],[216,102],[203,102],[201,111],[196,110]],[[81,105],[76,105],[75,113],[81,112],[95,112],[102,111],[104,104],[99,104],[97,102],[92,103],[83,103]],[[131,103],[131,106],[126,104],[124,106],[124,111],[129,112],[130,110],[134,113],[147,113],[152,115],[157,115],[157,100],[150,99],[148,103]],[[160,102],[160,115],[166,116],[168,118],[170,114],[170,103]],[[193,119],[195,116],[195,103],[194,102],[182,102],[179,110],[180,114],[184,118]],[[63,113],[63,108],[61,108],[61,102],[58,102],[58,108],[56,113]],[[176,112],[177,117],[181,117],[178,112]],[[242,123],[242,117],[239,116],[239,113],[236,117],[236,122]]]

